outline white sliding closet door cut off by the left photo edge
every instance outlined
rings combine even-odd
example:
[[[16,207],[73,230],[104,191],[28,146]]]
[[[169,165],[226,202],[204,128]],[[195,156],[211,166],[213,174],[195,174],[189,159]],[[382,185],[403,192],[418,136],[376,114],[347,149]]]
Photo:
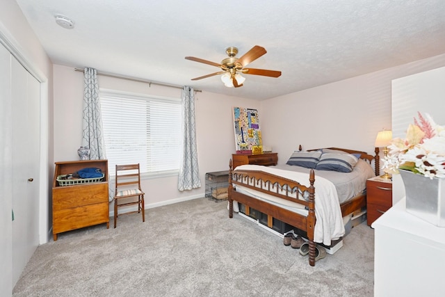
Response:
[[[12,186],[12,128],[10,98],[10,53],[0,45],[0,292],[12,292],[13,255],[13,186]]]

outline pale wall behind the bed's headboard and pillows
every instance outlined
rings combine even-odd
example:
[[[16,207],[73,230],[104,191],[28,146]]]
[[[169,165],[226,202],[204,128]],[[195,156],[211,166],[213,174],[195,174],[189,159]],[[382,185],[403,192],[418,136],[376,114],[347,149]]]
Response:
[[[391,81],[445,65],[445,54],[261,102],[265,145],[286,163],[293,152],[347,147],[374,154],[378,131],[391,129]]]

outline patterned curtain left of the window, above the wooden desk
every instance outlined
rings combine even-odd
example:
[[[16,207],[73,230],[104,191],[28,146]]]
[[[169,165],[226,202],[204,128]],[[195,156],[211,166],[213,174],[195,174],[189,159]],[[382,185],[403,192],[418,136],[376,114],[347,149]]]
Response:
[[[90,160],[105,158],[100,114],[99,83],[97,71],[86,67],[83,79],[83,138],[82,146],[90,149]]]

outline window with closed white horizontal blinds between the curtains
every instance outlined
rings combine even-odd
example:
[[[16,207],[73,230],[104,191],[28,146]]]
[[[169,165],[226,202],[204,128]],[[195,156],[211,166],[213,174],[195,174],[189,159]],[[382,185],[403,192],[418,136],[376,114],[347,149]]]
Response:
[[[101,90],[108,172],[116,164],[140,163],[142,175],[179,170],[181,99],[143,97]]]

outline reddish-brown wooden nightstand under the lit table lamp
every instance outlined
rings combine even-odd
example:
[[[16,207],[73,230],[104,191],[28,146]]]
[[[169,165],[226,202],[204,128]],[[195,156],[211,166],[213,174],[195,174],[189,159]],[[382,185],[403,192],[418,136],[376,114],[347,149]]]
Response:
[[[392,206],[392,181],[372,177],[366,181],[366,209],[368,225],[371,226]]]

